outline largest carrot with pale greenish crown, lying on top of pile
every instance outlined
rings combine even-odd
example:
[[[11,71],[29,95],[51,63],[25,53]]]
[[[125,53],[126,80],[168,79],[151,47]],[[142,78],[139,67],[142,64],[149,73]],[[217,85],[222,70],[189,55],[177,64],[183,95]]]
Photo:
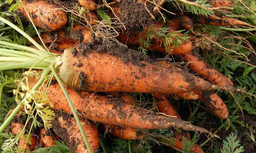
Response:
[[[210,82],[188,72],[147,62],[139,63],[143,66],[125,63],[106,52],[84,52],[75,47],[64,51],[62,61],[59,71],[63,83],[82,90],[177,94],[213,89]],[[79,63],[82,66],[74,66]]]

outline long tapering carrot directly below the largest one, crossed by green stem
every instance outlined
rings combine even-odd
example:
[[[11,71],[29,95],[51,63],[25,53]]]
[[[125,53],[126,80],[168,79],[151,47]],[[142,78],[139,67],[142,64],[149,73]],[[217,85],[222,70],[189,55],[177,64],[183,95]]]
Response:
[[[33,78],[29,82],[30,86],[36,83]],[[176,127],[184,130],[200,130],[201,132],[209,133],[203,128],[182,122],[179,119],[157,115],[138,106],[131,106],[126,103],[120,103],[119,101],[110,101],[108,97],[97,95],[96,93],[86,91],[77,93],[72,88],[67,88],[66,90],[69,93],[69,98],[75,110],[80,111],[84,118],[92,121],[140,129],[167,129],[169,127]],[[60,94],[60,91],[61,88],[57,83],[49,86],[47,95],[52,106],[56,110],[71,113],[71,108],[64,94]]]

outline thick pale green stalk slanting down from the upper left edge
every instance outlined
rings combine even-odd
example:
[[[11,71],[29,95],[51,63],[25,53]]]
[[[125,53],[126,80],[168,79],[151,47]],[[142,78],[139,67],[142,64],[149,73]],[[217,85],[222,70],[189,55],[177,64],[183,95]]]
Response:
[[[45,52],[45,49],[41,45],[39,45],[33,38],[26,34],[26,32],[22,31],[19,27],[15,26],[13,23],[4,19],[3,17],[0,17],[0,21],[3,21],[5,24],[8,24],[10,27],[14,28],[16,31],[26,37],[31,43],[33,43],[40,51]]]

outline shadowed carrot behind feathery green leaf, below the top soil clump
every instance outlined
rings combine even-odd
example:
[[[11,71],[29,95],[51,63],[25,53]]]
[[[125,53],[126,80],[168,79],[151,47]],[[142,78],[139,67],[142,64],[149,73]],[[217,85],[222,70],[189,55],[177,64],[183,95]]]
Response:
[[[155,30],[156,27],[157,28],[161,27],[161,24],[155,23],[155,25],[153,26],[148,26],[144,28],[142,32],[135,31],[131,34],[124,34],[124,35],[120,34],[118,39],[120,40],[120,42],[127,45],[142,45],[142,42],[140,42],[140,38],[143,36],[146,36],[149,31]],[[169,34],[172,32],[175,32],[175,30],[173,29],[168,30]],[[177,36],[182,36],[182,34],[180,33]],[[149,49],[160,51],[160,52],[168,52],[169,54],[172,54],[172,55],[179,55],[179,54],[187,54],[193,49],[193,46],[192,46],[192,42],[188,40],[185,43],[181,43],[179,47],[173,47],[173,45],[170,45],[170,47],[166,49],[166,47],[163,46],[162,39],[158,39],[158,40],[153,40],[151,42]]]

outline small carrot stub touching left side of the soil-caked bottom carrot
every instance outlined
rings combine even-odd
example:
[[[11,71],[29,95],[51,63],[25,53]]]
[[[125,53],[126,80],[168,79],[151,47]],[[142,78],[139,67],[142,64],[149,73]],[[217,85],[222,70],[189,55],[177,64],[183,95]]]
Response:
[[[48,132],[42,128],[39,132],[40,141],[44,144],[44,147],[54,146],[55,142],[51,134],[48,134]]]

